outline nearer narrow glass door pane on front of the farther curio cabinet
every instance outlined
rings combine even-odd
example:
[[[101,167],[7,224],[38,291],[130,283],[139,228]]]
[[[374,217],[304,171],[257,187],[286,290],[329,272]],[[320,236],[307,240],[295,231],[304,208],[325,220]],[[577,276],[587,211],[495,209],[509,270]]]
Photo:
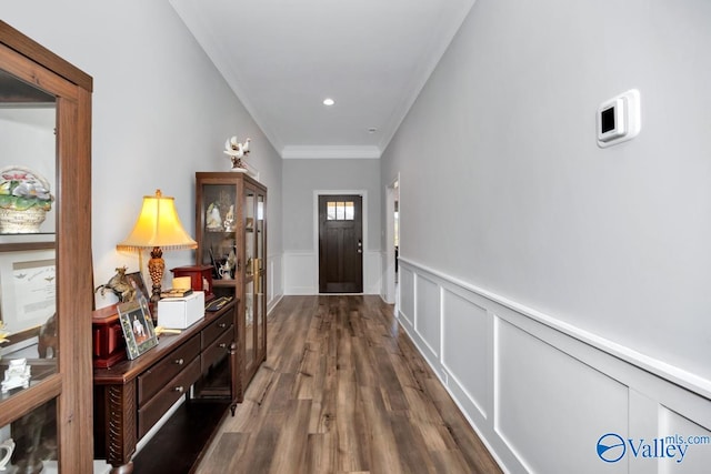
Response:
[[[254,221],[254,190],[244,186],[244,367],[249,372],[257,359],[254,345],[254,316],[257,304],[254,290],[259,275]]]

